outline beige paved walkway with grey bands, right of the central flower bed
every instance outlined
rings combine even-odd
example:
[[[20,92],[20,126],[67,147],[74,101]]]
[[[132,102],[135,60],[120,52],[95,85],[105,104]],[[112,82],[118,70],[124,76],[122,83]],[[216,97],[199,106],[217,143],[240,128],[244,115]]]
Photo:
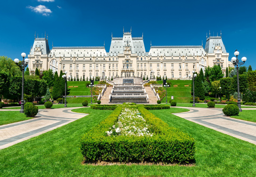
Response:
[[[181,118],[203,125],[210,129],[256,144],[256,122],[249,122],[225,116],[221,108],[190,108],[189,112],[175,113]],[[242,108],[256,110],[255,108]]]

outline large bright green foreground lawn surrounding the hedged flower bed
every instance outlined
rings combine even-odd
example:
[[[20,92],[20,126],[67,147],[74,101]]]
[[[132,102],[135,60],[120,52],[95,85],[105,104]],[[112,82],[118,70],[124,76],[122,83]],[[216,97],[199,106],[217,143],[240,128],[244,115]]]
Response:
[[[182,109],[151,110],[168,125],[196,139],[195,166],[81,165],[81,136],[111,110],[79,108],[89,115],[37,137],[0,150],[1,176],[255,176],[256,145],[172,115]],[[184,109],[186,111],[186,109]]]

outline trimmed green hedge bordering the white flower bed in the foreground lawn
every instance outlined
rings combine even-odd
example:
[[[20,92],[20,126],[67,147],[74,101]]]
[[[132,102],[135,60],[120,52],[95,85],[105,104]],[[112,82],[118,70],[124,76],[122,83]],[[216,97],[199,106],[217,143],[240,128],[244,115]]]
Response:
[[[81,139],[80,149],[86,162],[100,161],[164,161],[190,162],[194,160],[195,141],[180,130],[169,127],[148,110],[138,110],[154,135],[150,136],[107,136],[118,120],[122,107],[117,107],[105,120],[87,132]]]

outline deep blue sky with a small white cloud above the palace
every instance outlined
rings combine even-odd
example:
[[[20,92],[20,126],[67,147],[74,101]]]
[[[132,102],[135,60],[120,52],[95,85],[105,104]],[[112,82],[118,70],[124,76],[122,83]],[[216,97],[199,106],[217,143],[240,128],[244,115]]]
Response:
[[[0,55],[21,59],[29,53],[34,33],[48,34],[54,46],[103,46],[109,51],[111,32],[144,36],[152,45],[201,45],[206,33],[220,35],[230,58],[237,49],[245,65],[256,69],[255,1],[0,1]]]

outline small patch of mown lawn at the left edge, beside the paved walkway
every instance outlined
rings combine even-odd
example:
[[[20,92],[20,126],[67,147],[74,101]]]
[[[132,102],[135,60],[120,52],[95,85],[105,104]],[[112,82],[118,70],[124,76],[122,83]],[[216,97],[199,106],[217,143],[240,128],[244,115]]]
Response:
[[[19,111],[0,111],[0,125],[11,124],[28,119],[32,118],[26,117],[25,114],[22,114]]]

